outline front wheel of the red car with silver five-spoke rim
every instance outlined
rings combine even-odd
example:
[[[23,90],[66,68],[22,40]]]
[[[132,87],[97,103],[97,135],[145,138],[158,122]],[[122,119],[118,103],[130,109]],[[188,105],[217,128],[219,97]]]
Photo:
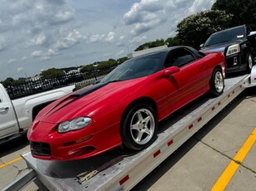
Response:
[[[156,138],[158,123],[155,111],[149,105],[136,105],[128,111],[121,127],[123,146],[128,149],[147,148]]]

